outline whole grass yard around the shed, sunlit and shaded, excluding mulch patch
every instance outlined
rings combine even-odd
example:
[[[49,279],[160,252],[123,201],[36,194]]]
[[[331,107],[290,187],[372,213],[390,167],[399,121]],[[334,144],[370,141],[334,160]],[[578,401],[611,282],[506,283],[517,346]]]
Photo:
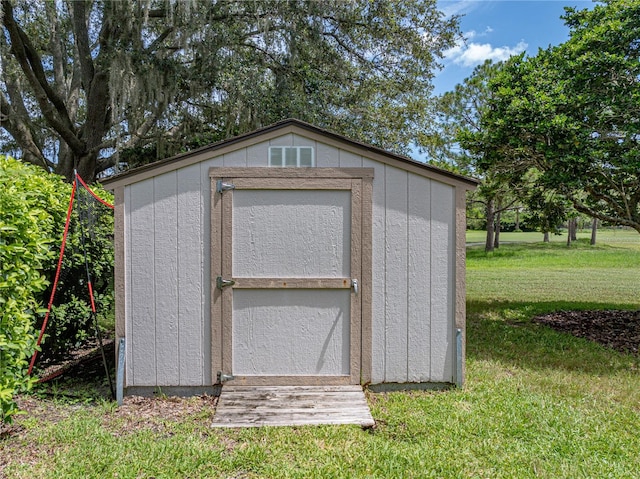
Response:
[[[206,399],[162,415],[59,386],[25,398],[33,413],[0,438],[0,477],[638,477],[640,359],[531,322],[640,309],[640,235],[619,233],[470,247],[466,387],[369,394],[375,430],[214,430]]]

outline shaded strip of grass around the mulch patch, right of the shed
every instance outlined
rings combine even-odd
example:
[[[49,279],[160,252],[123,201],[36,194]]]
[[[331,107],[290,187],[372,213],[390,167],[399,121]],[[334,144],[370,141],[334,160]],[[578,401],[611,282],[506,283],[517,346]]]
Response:
[[[467,356],[534,371],[558,369],[612,376],[637,370],[637,356],[532,322],[533,317],[552,311],[593,309],[629,309],[629,305],[469,301]]]

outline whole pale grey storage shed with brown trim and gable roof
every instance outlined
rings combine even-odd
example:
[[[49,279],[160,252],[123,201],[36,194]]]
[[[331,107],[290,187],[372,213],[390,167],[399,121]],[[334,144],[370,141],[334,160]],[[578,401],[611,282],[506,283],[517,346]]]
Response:
[[[103,183],[126,394],[463,381],[475,180],[287,120]]]

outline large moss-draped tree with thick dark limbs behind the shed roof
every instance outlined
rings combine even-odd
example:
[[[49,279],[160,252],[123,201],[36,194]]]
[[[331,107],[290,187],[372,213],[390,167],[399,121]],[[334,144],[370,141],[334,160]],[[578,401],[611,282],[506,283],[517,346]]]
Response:
[[[93,179],[296,117],[408,152],[459,35],[436,0],[2,0],[2,150]]]

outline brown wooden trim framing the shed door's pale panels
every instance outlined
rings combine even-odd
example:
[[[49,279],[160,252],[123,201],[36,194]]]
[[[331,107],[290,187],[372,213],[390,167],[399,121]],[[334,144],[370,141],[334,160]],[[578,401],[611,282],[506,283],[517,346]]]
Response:
[[[223,256],[223,243],[231,240],[231,228],[222,228],[223,222],[231,220],[232,204],[223,201],[223,195],[218,193],[216,182],[219,179],[243,178],[239,181],[242,189],[300,189],[294,183],[300,183],[302,189],[349,189],[352,191],[352,228],[357,228],[360,237],[359,255],[351,255],[352,268],[359,273],[360,284],[358,295],[352,292],[351,301],[351,338],[350,338],[350,376],[260,376],[245,377],[237,384],[367,384],[372,374],[372,212],[373,212],[373,168],[228,168],[212,167],[209,169],[211,178],[211,374],[212,384],[218,382],[218,371],[225,371],[226,359],[231,358],[230,321],[223,321],[223,310],[232,307],[232,292],[230,289],[220,291],[216,287],[217,276],[221,273],[230,276],[231,255]],[[255,179],[255,182],[254,182]],[[291,180],[299,179],[293,182]],[[318,181],[321,180],[321,181]],[[329,181],[327,181],[329,180]],[[331,182],[331,180],[335,180]],[[347,187],[344,180],[349,180]],[[263,186],[260,187],[262,182]],[[333,183],[333,186],[331,184]],[[306,186],[305,186],[306,185]],[[323,185],[329,185],[326,188]],[[229,195],[232,197],[233,195]],[[357,196],[357,198],[356,198]],[[226,206],[226,205],[229,206]],[[353,207],[357,211],[353,211]],[[359,217],[359,224],[354,225],[354,218]],[[223,236],[229,235],[229,237]],[[353,232],[352,232],[353,237]],[[352,245],[353,248],[353,245]],[[353,275],[352,269],[352,275]],[[223,307],[224,304],[224,307]],[[355,309],[354,309],[355,308]],[[359,320],[354,320],[354,313]],[[359,314],[358,314],[359,313]],[[226,324],[225,324],[226,323]],[[226,327],[223,331],[223,326]],[[230,366],[230,365],[229,365]],[[230,370],[230,369],[227,369]],[[290,378],[290,379],[289,379]]]

